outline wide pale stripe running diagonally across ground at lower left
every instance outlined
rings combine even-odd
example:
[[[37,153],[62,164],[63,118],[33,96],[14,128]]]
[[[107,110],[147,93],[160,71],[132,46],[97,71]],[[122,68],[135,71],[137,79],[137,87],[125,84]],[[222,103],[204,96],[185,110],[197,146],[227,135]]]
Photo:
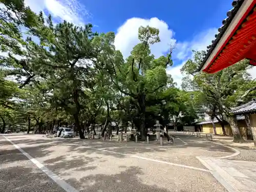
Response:
[[[28,153],[26,153],[22,148],[20,148],[18,145],[13,143],[10,139],[8,139],[6,136],[4,138],[9,141],[13,146],[17,148],[20,153],[25,155],[31,162],[33,162],[39,169],[41,169],[43,172],[45,172],[48,177],[50,177],[55,183],[57,183],[61,188],[66,190],[67,192],[78,192],[74,187],[72,187],[70,184],[66,183],[64,180],[62,180],[59,176],[54,174],[51,170],[49,170],[46,166],[41,164],[39,161],[37,161],[35,158],[31,157]]]

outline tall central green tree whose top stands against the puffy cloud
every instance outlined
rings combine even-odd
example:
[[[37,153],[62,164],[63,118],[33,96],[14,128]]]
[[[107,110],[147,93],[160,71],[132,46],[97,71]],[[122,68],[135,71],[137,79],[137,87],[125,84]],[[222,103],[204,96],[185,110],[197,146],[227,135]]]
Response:
[[[157,95],[166,88],[166,68],[172,65],[172,60],[171,53],[159,58],[151,54],[150,45],[160,41],[158,29],[140,27],[138,38],[140,43],[126,59],[123,59],[120,51],[115,50],[114,33],[102,34],[94,40],[101,50],[96,66],[108,74],[115,89],[131,97],[131,102],[138,110],[141,139],[145,140],[147,97],[152,93]]]

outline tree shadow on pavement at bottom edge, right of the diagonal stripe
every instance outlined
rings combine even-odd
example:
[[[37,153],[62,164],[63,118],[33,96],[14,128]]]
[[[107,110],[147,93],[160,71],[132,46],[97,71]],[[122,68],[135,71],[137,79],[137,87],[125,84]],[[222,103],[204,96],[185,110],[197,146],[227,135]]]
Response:
[[[160,188],[156,185],[144,184],[139,178],[139,176],[143,174],[144,173],[140,167],[130,166],[126,167],[126,170],[115,175],[96,174],[83,177],[79,181],[75,179],[68,179],[67,181],[73,186],[77,186],[77,189],[80,191],[188,192],[185,190],[177,189],[177,186],[174,183],[168,183],[169,186],[173,185],[173,189]]]

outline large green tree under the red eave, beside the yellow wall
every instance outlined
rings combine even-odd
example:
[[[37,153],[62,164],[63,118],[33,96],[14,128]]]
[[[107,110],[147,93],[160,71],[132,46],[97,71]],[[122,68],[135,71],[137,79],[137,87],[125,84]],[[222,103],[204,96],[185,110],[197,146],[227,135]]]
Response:
[[[182,67],[182,88],[200,91],[206,101],[203,104],[212,109],[214,114],[221,114],[223,120],[230,124],[234,142],[244,142],[231,108],[247,100],[256,89],[256,82],[247,73],[250,68],[248,60],[242,60],[215,74],[207,74],[197,70],[204,54],[204,51],[194,52],[194,58],[188,59]]]

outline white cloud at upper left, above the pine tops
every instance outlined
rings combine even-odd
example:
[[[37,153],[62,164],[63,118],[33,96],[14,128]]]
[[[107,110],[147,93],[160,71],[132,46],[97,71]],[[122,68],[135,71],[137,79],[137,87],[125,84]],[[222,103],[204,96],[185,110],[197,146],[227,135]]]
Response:
[[[34,12],[49,12],[53,18],[67,20],[76,25],[83,25],[82,18],[88,16],[88,11],[77,0],[25,0],[25,4]]]

